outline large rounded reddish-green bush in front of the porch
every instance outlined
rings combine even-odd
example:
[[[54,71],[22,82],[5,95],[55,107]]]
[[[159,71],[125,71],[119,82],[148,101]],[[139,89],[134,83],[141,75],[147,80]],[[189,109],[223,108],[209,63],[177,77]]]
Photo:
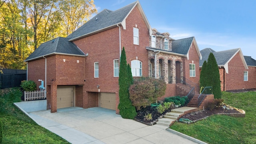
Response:
[[[166,83],[151,77],[141,77],[134,79],[134,83],[129,88],[130,100],[137,110],[150,106],[156,102],[158,97],[165,94]]]

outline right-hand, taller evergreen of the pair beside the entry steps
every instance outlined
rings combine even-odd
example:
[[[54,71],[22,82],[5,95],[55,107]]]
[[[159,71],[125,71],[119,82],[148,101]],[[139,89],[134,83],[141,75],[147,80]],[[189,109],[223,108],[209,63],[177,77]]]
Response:
[[[210,53],[207,66],[206,66],[206,76],[209,86],[212,86],[212,93],[214,94],[215,99],[221,98],[221,89],[220,89],[220,73],[218,64],[212,52]]]

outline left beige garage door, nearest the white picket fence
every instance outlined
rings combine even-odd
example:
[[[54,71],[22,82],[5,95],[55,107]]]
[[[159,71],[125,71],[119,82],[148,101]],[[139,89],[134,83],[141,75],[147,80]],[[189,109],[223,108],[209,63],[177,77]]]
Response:
[[[74,87],[57,88],[57,108],[74,106]]]

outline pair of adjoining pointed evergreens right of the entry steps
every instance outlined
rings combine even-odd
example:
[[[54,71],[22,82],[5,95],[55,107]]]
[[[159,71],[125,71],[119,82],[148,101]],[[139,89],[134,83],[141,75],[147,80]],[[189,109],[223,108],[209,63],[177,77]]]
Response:
[[[212,86],[212,93],[214,94],[214,98],[219,99],[221,98],[220,72],[212,52],[208,57],[207,63],[204,62],[204,65],[200,74],[200,86]]]

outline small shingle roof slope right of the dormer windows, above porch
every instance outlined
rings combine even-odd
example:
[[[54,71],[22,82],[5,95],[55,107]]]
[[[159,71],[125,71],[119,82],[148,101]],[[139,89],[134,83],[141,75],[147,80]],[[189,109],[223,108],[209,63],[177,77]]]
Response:
[[[193,39],[194,36],[172,41],[172,52],[177,54],[187,54]]]

